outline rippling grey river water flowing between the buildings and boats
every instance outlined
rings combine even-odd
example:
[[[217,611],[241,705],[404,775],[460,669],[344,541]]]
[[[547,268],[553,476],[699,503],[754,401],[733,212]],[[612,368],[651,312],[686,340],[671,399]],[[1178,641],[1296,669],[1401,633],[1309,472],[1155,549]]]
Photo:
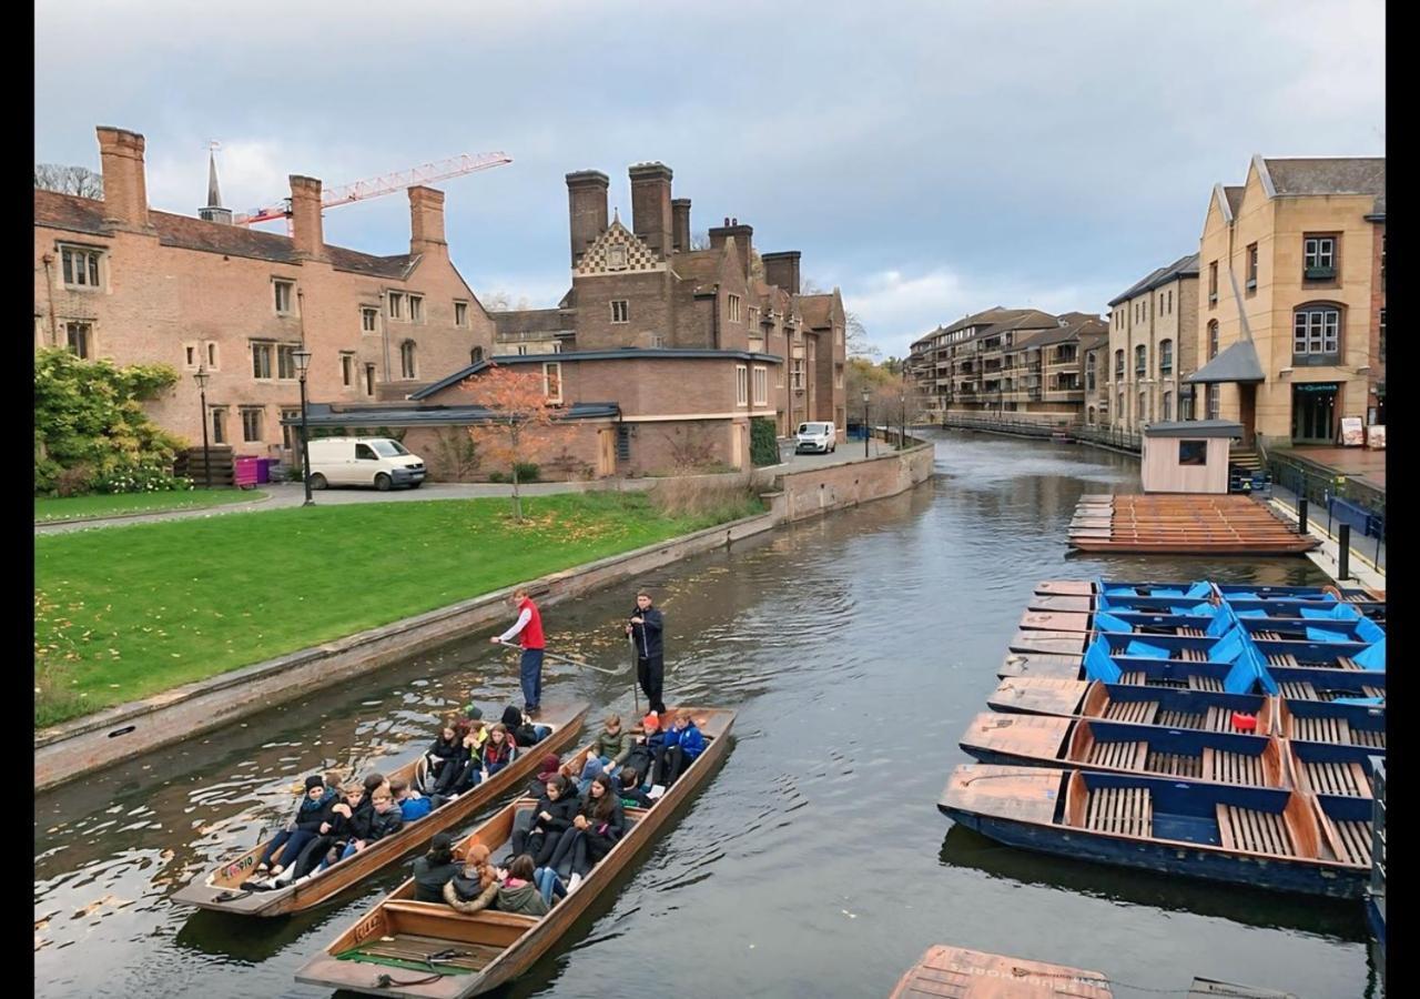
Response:
[[[936,809],[967,722],[1044,578],[1309,584],[1309,561],[1068,554],[1106,452],[937,438],[937,476],[645,580],[666,699],[738,711],[723,767],[510,996],[882,996],[949,942],[1102,971],[1116,996],[1194,975],[1379,995],[1360,902],[1272,895],[998,847]],[[547,612],[550,645],[621,665],[632,587]],[[284,821],[310,772],[403,762],[470,688],[517,701],[484,635],[36,799],[40,996],[325,996],[293,975],[406,877],[241,921],[169,897]],[[545,699],[632,713],[629,675],[548,666]]]

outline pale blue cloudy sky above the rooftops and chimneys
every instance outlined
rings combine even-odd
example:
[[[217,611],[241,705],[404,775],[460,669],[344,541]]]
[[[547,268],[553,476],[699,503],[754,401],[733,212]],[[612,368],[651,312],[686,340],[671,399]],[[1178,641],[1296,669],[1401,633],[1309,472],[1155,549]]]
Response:
[[[1384,155],[1383,0],[40,0],[36,162],[146,136],[153,207],[227,207],[459,153],[437,183],[474,293],[569,287],[564,175],[660,161],[692,229],[799,250],[885,355],[991,306],[1108,313],[1196,252],[1264,156]],[[270,227],[270,226],[268,226]],[[284,232],[277,223],[274,232]],[[402,195],[328,243],[408,252]]]

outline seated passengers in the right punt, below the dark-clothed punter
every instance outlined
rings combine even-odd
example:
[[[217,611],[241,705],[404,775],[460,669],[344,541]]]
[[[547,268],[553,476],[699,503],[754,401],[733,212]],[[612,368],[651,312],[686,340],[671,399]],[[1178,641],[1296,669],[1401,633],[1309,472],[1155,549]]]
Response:
[[[561,772],[555,755],[542,757],[527,790],[537,803],[514,824],[507,868],[496,867],[481,843],[460,864],[452,838],[436,836],[429,854],[415,861],[416,901],[443,901],[466,914],[488,908],[547,915],[621,840],[628,827],[625,809],[652,807],[704,747],[689,715],[677,715],[662,730],[652,712],[642,719],[639,736],[623,732],[621,718],[609,715],[579,782]],[[568,865],[571,877],[564,884],[559,870]]]

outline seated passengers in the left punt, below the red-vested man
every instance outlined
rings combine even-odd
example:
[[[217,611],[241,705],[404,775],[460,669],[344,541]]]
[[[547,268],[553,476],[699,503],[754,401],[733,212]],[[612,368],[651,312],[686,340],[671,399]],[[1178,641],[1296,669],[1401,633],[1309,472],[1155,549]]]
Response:
[[[469,705],[463,718],[446,720],[442,738],[427,753],[427,797],[409,782],[381,773],[346,787],[327,786],[325,777],[311,774],[295,816],[261,851],[256,877],[243,888],[270,891],[354,857],[491,777],[513,762],[518,746],[531,746],[550,732],[545,725],[525,722],[511,705],[503,720],[488,728],[483,712]]]

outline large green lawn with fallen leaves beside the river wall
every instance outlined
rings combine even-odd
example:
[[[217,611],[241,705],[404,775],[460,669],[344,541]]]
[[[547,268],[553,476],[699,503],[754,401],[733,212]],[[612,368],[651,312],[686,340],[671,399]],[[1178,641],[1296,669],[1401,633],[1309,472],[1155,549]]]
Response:
[[[757,513],[640,492],[295,507],[41,534],[36,725]]]

